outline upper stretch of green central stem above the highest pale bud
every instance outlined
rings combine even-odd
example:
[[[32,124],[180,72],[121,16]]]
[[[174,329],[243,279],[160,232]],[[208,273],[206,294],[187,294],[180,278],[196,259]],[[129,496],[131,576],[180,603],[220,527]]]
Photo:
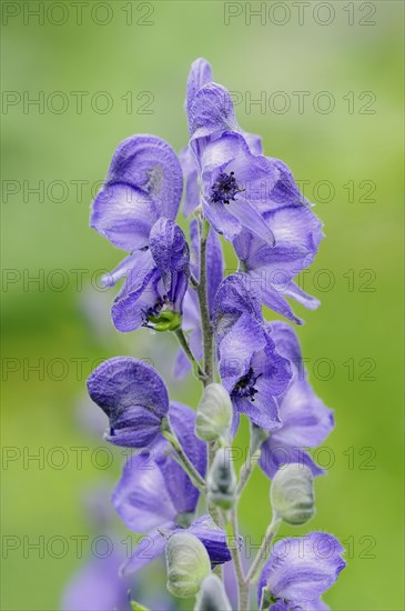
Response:
[[[206,286],[206,240],[210,233],[210,223],[205,219],[200,220],[200,282],[196,288],[199,297],[200,313],[201,313],[201,327],[203,337],[203,350],[204,350],[204,371],[206,379],[204,385],[213,382],[213,330],[210,319],[209,300],[207,300],[207,286]]]

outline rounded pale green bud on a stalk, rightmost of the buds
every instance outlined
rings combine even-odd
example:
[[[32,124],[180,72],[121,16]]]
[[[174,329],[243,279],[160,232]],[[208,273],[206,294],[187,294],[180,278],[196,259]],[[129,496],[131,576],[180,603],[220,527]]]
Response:
[[[288,524],[305,524],[315,513],[314,481],[311,470],[303,464],[279,469],[270,494],[276,517]]]

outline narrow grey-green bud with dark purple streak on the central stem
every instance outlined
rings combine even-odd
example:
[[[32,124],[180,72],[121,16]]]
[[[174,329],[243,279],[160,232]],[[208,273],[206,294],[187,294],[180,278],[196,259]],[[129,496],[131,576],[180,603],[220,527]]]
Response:
[[[206,478],[210,504],[231,509],[236,500],[236,475],[230,460],[229,448],[217,450]]]

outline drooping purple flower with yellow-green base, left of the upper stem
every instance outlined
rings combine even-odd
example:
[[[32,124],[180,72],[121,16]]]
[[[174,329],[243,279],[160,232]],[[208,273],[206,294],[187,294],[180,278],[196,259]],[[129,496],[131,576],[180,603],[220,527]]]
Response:
[[[149,250],[138,254],[138,261],[112,306],[115,328],[175,330],[190,278],[190,252],[182,229],[169,219],[159,219],[149,237]]]

